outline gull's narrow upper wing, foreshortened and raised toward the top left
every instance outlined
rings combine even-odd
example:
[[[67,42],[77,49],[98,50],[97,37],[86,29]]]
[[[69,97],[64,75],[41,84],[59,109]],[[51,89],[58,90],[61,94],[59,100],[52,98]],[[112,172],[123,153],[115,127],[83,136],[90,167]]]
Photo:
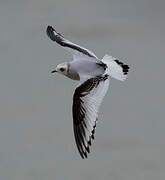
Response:
[[[73,55],[74,59],[76,59],[77,56],[88,56],[97,58],[96,55],[88,49],[65,39],[60,33],[56,32],[56,30],[52,26],[48,26],[46,32],[48,37],[52,41],[56,41],[59,45],[68,50]]]

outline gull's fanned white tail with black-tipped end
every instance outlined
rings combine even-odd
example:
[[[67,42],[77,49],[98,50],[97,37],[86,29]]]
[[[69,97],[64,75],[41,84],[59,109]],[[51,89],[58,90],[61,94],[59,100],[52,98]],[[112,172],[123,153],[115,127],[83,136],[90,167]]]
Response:
[[[129,66],[123,64],[116,58],[105,55],[102,59],[102,62],[105,63],[108,68],[106,73],[117,80],[124,81],[127,78]]]

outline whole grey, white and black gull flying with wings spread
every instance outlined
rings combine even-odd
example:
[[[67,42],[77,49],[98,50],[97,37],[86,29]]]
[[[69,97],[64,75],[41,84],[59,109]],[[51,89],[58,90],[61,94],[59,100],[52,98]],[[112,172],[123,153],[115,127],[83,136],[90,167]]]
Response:
[[[90,153],[94,139],[98,110],[109,87],[109,80],[124,81],[129,66],[118,59],[105,55],[102,59],[77,44],[65,39],[52,26],[47,27],[47,35],[73,55],[73,61],[64,62],[52,73],[58,72],[72,80],[79,81],[73,95],[73,130],[77,149],[84,159]]]

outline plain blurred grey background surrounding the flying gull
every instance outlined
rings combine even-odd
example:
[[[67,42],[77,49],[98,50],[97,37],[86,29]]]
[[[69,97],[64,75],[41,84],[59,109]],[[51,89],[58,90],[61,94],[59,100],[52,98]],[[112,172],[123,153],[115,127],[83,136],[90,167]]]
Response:
[[[165,179],[165,1],[0,0],[0,179]],[[99,58],[130,65],[111,80],[87,160],[72,130],[76,82],[51,70],[72,56],[47,25]]]

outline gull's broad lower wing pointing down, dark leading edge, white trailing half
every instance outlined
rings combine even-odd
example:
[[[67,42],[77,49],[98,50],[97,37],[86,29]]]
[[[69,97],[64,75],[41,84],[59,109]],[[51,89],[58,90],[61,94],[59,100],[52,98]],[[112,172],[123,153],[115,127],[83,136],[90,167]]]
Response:
[[[94,139],[99,106],[108,90],[108,75],[91,78],[75,90],[73,96],[73,129],[78,151],[82,158],[90,152]]]

